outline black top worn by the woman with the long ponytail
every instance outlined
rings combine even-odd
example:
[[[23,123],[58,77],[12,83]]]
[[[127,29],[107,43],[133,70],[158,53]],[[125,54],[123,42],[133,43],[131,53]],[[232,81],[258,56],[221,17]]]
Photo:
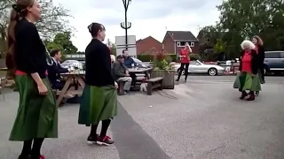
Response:
[[[15,27],[15,64],[16,69],[28,74],[37,72],[46,78],[46,49],[36,26],[27,19],[20,19]]]

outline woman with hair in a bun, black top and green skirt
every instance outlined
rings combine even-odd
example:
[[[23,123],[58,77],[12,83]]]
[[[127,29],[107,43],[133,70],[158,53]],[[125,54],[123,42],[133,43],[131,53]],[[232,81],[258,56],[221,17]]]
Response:
[[[93,39],[85,50],[85,87],[78,123],[91,125],[91,133],[87,139],[89,143],[110,145],[114,140],[106,135],[106,131],[111,118],[117,114],[117,84],[111,71],[110,50],[103,43],[106,36],[105,27],[99,23],[92,23],[88,28]],[[102,126],[98,135],[99,121],[102,121]]]

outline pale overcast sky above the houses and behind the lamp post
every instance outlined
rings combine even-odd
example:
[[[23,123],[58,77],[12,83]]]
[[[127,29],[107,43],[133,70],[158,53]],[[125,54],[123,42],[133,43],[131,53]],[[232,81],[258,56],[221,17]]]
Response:
[[[115,36],[124,35],[120,23],[124,21],[122,0],[53,0],[70,10],[74,19],[70,25],[75,27],[74,45],[84,51],[91,41],[88,25],[99,22],[106,27],[106,39],[115,42]],[[167,30],[191,31],[197,35],[200,27],[214,25],[219,12],[216,6],[222,0],[132,0],[128,20],[132,23],[129,35],[136,35],[137,40],[151,35],[158,41]]]

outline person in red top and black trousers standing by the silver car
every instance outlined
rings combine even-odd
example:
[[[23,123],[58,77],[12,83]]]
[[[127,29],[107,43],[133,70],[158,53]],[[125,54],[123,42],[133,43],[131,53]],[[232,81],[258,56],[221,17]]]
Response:
[[[185,49],[181,49],[180,54],[178,56],[181,58],[181,61],[180,61],[181,64],[179,67],[179,72],[178,72],[176,81],[179,81],[180,76],[185,69],[185,82],[186,82],[187,75],[188,75],[188,66],[189,66],[189,61],[190,61],[190,58],[189,58],[190,53],[192,53],[192,49],[190,48],[189,44],[186,42]]]

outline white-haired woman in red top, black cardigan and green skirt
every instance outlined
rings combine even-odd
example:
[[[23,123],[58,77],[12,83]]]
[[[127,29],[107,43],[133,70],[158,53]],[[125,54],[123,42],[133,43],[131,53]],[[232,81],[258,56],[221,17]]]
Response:
[[[255,100],[255,92],[260,91],[260,82],[257,75],[258,72],[258,56],[256,54],[255,45],[250,41],[244,41],[241,43],[241,61],[240,61],[240,80],[239,90],[241,91],[240,99],[245,99],[247,101]],[[249,91],[247,93],[246,91]]]

